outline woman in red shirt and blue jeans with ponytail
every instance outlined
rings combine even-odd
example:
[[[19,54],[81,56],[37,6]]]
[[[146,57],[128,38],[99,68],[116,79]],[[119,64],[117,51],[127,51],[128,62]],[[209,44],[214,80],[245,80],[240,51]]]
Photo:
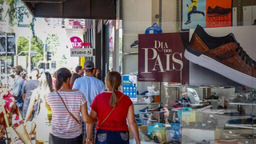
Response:
[[[122,78],[118,72],[108,73],[105,79],[107,91],[98,94],[90,106],[90,116],[98,117],[96,144],[128,144],[130,138],[126,118],[136,143],[140,144],[134,105],[128,96],[118,91],[121,82]],[[88,133],[91,131],[90,128]],[[89,144],[92,143],[92,138],[87,138],[87,141]]]

